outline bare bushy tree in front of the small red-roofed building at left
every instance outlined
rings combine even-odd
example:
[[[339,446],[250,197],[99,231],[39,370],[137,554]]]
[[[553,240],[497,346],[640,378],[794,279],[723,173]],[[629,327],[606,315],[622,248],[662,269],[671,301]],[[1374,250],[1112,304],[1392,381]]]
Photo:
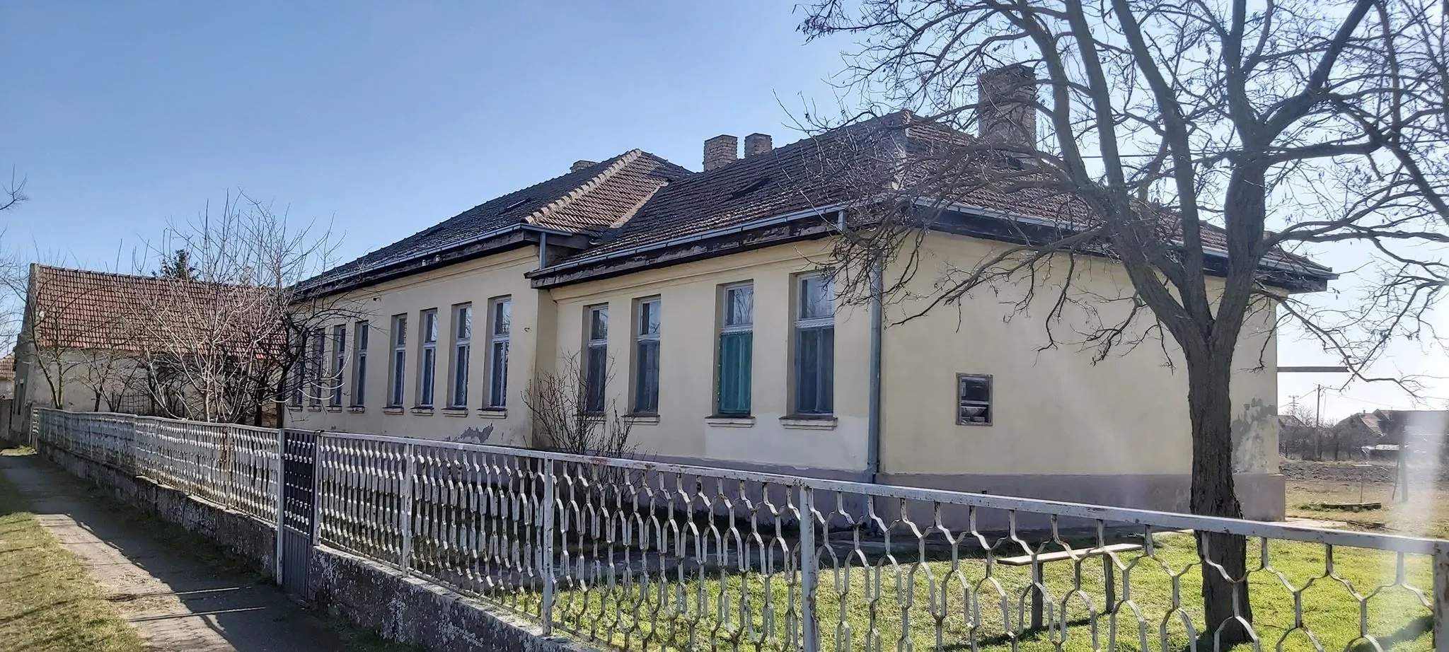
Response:
[[[335,391],[341,378],[330,375],[288,384],[307,359],[307,338],[356,313],[345,297],[304,300],[296,288],[326,268],[335,246],[330,230],[296,226],[243,193],[172,223],[148,248],[154,261],[138,262],[175,277],[159,309],[136,316],[158,403],[184,406],[175,416],[262,425],[291,393]]]

